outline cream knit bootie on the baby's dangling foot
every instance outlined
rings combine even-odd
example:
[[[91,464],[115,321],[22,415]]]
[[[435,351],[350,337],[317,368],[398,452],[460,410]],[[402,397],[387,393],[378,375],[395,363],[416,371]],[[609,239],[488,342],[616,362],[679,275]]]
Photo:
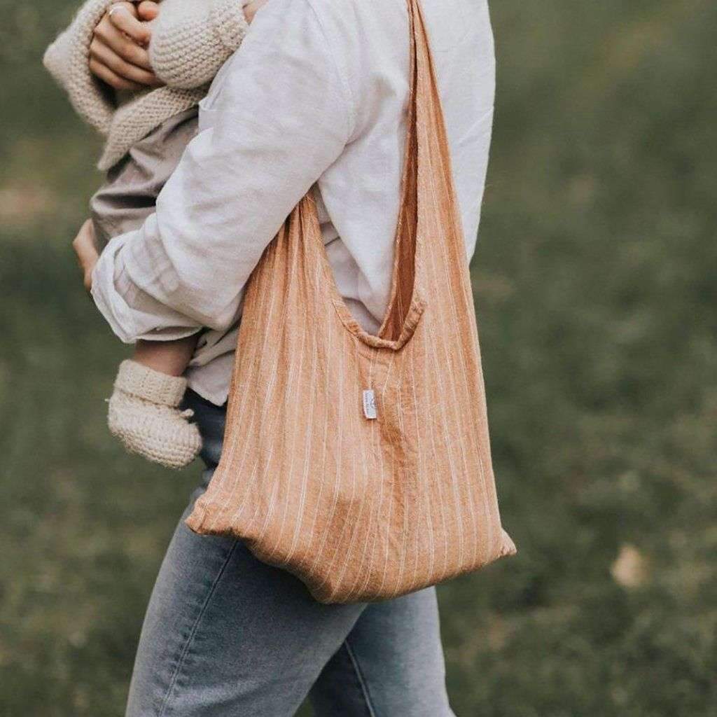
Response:
[[[199,428],[179,410],[186,379],[126,359],[109,399],[108,425],[130,453],[168,468],[191,463],[201,449]]]

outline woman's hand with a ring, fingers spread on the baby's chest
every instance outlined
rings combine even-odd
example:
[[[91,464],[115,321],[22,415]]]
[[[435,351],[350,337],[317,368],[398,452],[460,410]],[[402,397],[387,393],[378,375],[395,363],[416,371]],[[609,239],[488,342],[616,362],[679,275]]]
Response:
[[[151,32],[148,21],[158,14],[156,2],[138,6],[116,2],[95,27],[90,44],[90,72],[115,90],[159,87],[149,64],[147,47]]]

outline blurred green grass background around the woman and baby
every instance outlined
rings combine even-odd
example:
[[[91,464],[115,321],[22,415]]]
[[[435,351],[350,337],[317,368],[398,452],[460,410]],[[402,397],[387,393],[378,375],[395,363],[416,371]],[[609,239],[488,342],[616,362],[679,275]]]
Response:
[[[197,478],[124,455],[69,241],[98,142],[0,0],[0,715],[116,716]],[[440,589],[462,717],[717,705],[717,6],[501,0],[473,278],[520,554]],[[400,716],[397,716],[400,717]]]

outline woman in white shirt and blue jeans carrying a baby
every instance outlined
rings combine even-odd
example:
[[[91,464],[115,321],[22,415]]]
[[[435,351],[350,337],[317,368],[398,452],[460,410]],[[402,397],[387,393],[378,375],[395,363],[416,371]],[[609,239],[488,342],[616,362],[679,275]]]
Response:
[[[493,114],[488,7],[422,6],[470,257]],[[92,71],[113,86],[148,79],[127,67],[146,57],[126,48],[121,34],[100,33]],[[123,340],[178,326],[228,337],[189,376],[207,468],[152,592],[127,715],[289,716],[310,694],[318,715],[450,716],[434,588],[320,604],[240,541],[184,523],[221,454],[244,284],[313,184],[338,288],[366,331],[381,323],[407,126],[406,0],[271,0],[220,76],[156,214],[99,260],[77,242],[95,303]]]

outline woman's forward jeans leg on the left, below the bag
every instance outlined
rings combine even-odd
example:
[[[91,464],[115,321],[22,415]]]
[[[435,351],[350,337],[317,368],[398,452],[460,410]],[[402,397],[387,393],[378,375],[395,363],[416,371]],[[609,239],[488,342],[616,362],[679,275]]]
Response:
[[[364,606],[320,604],[241,541],[193,533],[184,518],[203,490],[161,565],[126,715],[290,717]]]

